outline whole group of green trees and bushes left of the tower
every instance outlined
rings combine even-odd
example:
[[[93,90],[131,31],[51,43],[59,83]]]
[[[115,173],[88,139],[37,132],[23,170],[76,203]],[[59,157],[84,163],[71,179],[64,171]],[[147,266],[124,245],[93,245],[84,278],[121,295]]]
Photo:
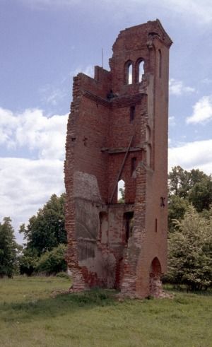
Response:
[[[15,241],[10,218],[0,224],[0,277],[14,274],[57,274],[66,271],[65,194],[53,194],[32,216],[20,225],[23,247]]]

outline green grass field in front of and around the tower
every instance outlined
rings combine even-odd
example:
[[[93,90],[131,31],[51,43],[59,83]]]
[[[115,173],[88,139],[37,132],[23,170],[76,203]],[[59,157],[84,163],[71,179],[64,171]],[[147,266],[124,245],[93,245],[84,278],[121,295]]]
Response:
[[[1,347],[211,347],[212,295],[118,301],[110,290],[52,297],[70,281],[0,280]]]

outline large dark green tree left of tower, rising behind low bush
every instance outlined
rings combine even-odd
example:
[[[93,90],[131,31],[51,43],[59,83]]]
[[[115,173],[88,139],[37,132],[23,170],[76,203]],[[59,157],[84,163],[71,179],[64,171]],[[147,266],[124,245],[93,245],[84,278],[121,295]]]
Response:
[[[26,249],[30,249],[39,257],[57,245],[66,244],[66,230],[64,228],[65,194],[53,194],[36,216],[30,218],[27,227],[20,226],[20,233],[24,234]]]

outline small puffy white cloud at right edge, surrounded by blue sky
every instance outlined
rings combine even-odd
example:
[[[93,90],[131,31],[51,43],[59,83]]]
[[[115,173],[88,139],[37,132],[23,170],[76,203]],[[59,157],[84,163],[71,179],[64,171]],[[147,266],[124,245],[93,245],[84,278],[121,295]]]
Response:
[[[212,119],[212,95],[204,96],[193,107],[193,114],[187,117],[189,123],[206,123]]]

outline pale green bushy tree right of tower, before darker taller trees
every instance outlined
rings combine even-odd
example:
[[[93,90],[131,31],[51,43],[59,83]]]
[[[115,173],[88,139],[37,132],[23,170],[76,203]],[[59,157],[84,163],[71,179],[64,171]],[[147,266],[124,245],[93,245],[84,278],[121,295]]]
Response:
[[[212,286],[212,218],[204,218],[189,206],[184,219],[170,233],[166,281],[191,290]]]

